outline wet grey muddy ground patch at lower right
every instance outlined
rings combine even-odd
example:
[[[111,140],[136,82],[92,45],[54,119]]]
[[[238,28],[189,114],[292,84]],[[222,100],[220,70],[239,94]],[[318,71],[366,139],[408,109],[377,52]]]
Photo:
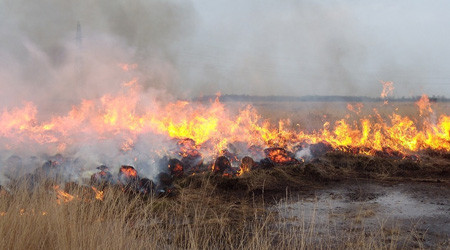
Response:
[[[314,225],[317,235],[364,232],[407,248],[450,247],[450,186],[444,183],[341,183],[293,195],[276,209],[287,224]]]

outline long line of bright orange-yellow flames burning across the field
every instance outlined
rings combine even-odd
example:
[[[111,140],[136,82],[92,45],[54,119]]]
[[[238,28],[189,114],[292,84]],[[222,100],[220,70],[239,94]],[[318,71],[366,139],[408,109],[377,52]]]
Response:
[[[393,83],[382,83],[385,97],[392,93]],[[439,118],[436,115],[434,122],[428,119],[433,110],[426,95],[416,103],[421,115],[418,118],[395,112],[382,118],[376,110],[371,116],[359,117],[362,104],[349,104],[348,109],[355,113],[353,120],[347,116],[333,122],[324,116],[322,128],[308,132],[292,126],[289,120],[270,123],[250,105],[237,114],[227,110],[218,98],[209,104],[177,101],[164,106],[155,103],[146,106],[142,105],[147,100],[140,92],[137,79],[133,79],[124,84],[121,93],[84,100],[66,115],[45,121],[37,118],[38,109],[30,102],[23,107],[3,109],[0,138],[8,150],[38,143],[64,153],[76,143],[114,137],[122,140],[119,147],[126,152],[133,150],[141,135],[156,134],[184,140],[178,145],[182,157],[217,156],[235,142],[244,142],[249,148],[287,149],[299,142],[326,142],[333,148],[349,151],[359,148],[359,153],[371,155],[387,148],[403,154],[426,149],[450,151],[450,117],[441,114]],[[276,162],[288,161],[283,154],[271,157]],[[137,175],[132,170],[125,170],[125,174]]]

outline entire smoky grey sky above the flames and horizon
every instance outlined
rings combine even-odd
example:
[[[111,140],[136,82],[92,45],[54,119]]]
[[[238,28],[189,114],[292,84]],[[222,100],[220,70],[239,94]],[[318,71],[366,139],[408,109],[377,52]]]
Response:
[[[155,98],[376,97],[380,81],[450,97],[448,13],[445,0],[0,0],[0,105],[100,97],[129,77],[119,63]]]

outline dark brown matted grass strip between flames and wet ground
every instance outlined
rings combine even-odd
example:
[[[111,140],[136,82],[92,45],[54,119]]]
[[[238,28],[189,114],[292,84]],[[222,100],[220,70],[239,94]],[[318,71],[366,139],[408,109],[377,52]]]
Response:
[[[180,188],[200,187],[206,179],[219,193],[231,195],[284,196],[355,180],[423,182],[450,186],[450,153],[428,153],[417,159],[352,155],[334,151],[307,163],[256,169],[240,177],[213,173],[190,175],[176,180]]]

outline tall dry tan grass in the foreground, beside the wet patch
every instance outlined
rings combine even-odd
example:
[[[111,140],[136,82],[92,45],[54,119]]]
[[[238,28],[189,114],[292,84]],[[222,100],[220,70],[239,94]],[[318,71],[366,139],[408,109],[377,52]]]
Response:
[[[58,204],[52,188],[15,190],[0,197],[1,249],[306,249],[421,247],[405,232],[326,230],[314,218],[293,222],[264,199],[228,196],[206,177],[176,197],[154,198],[106,190],[104,201],[89,187],[72,186],[76,198]],[[77,198],[80,197],[80,198]],[[314,216],[313,216],[314,217]],[[361,216],[364,217],[364,216]],[[323,232],[326,233],[323,233]]]

